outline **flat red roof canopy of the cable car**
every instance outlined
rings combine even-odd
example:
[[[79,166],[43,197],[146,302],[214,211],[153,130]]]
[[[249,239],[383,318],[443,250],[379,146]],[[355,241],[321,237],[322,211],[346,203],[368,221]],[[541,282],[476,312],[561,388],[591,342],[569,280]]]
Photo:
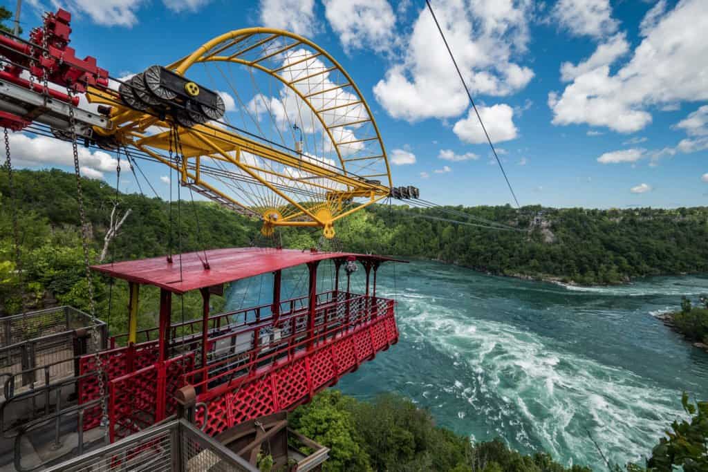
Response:
[[[354,258],[362,263],[406,262],[382,255],[331,253],[277,248],[226,248],[175,254],[119,263],[92,265],[91,269],[117,279],[154,285],[176,294],[234,282],[254,275],[321,260]],[[208,268],[205,263],[208,261]]]

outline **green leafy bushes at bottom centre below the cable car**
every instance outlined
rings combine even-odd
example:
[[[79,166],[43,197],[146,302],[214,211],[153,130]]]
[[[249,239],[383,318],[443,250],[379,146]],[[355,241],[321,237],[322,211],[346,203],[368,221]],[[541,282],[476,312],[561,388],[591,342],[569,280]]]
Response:
[[[564,468],[548,454],[525,456],[501,439],[472,444],[436,427],[406,398],[384,394],[371,403],[324,391],[290,417],[291,425],[331,448],[326,471],[590,472]]]

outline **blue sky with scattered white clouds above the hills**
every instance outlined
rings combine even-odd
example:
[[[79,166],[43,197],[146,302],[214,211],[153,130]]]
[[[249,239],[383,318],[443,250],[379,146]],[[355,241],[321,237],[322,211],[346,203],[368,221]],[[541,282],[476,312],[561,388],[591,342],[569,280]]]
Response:
[[[74,13],[77,55],[97,57],[118,77],[167,64],[227,30],[265,25],[302,34],[358,84],[394,163],[394,184],[416,185],[443,204],[511,202],[423,1],[52,3]],[[25,30],[47,6],[25,2]],[[437,0],[433,7],[521,205],[707,205],[708,2]],[[46,149],[38,143],[23,144],[24,166],[64,167],[32,155]],[[165,195],[164,169],[145,170]],[[115,184],[108,169],[96,175]],[[127,178],[124,185],[135,190]]]

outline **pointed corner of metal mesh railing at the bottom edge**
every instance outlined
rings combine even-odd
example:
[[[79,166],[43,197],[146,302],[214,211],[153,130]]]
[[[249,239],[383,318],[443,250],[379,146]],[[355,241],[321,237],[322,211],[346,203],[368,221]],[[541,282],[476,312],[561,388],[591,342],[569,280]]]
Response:
[[[258,468],[185,420],[156,425],[46,470],[258,472]]]

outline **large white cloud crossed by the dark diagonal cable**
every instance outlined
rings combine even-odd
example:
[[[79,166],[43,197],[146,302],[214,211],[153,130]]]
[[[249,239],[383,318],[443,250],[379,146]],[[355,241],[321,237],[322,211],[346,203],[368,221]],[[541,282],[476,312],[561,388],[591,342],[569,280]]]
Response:
[[[506,96],[534,76],[520,66],[526,51],[530,2],[462,0],[435,2],[435,15],[473,94]],[[383,108],[410,122],[456,117],[469,105],[430,13],[421,8],[401,62],[374,87]]]

